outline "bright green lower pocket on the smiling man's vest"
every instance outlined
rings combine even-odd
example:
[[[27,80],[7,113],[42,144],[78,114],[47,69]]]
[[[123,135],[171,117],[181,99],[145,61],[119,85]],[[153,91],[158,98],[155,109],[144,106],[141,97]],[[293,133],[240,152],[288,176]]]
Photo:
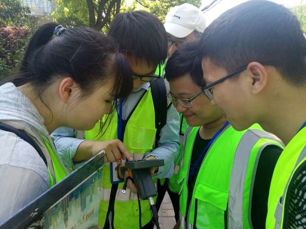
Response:
[[[199,183],[194,192],[197,202],[196,228],[221,229],[225,228],[225,212],[227,210],[229,192]],[[194,215],[193,215],[194,216]]]

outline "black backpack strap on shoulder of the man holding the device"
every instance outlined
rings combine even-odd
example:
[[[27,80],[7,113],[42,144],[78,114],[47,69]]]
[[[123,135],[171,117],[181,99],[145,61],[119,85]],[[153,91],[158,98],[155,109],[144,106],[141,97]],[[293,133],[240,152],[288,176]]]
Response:
[[[165,81],[162,77],[150,82],[150,84],[155,111],[155,146],[157,146],[157,142],[160,139],[160,131],[167,122],[167,90]]]

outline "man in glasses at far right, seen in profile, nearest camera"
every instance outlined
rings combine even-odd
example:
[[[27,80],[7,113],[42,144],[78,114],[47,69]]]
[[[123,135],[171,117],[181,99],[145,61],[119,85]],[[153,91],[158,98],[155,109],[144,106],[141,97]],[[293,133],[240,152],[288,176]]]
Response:
[[[247,1],[212,22],[200,44],[203,91],[212,103],[236,130],[259,123],[286,145],[271,180],[266,228],[306,229],[306,39],[299,20],[274,2]]]

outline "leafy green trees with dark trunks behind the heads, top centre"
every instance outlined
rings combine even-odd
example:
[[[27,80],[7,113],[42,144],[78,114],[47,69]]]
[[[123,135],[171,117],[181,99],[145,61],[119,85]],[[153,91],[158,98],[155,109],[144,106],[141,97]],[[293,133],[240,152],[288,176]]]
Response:
[[[65,27],[89,26],[106,32],[116,14],[129,10],[146,10],[162,22],[170,8],[185,2],[197,7],[201,0],[56,0],[52,13],[55,22]]]

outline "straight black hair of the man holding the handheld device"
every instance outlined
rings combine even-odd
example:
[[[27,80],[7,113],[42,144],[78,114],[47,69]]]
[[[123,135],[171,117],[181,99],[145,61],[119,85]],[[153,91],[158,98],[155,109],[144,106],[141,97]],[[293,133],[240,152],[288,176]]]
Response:
[[[120,13],[111,23],[108,35],[119,51],[148,65],[162,64],[167,58],[167,34],[162,22],[145,11]]]

